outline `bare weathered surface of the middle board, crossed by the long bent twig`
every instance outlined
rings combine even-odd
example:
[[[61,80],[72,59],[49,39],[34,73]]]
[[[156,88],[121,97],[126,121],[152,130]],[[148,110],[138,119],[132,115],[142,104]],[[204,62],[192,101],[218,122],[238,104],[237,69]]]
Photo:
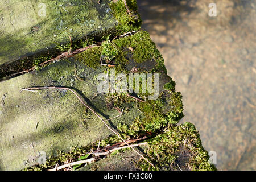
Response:
[[[84,81],[76,80],[77,74]],[[63,60],[40,71],[27,73],[0,83],[0,169],[14,170],[38,162],[39,152],[46,155],[69,151],[70,147],[86,146],[111,133],[71,92],[40,90],[26,92],[20,88],[61,85],[75,89],[80,96],[103,118],[118,115],[115,109],[106,108],[105,98],[97,94],[97,75],[105,68],[92,69],[73,60]],[[109,121],[131,123],[140,115],[137,107],[121,118]]]

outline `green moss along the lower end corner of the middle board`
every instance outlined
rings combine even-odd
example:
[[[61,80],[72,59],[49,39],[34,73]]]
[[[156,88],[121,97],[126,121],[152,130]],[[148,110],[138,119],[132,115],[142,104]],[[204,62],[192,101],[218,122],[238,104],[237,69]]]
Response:
[[[136,118],[132,125],[118,125],[123,137],[143,134],[155,135],[163,131],[170,124],[176,124],[183,115],[182,96],[180,92],[168,94],[167,97],[159,97],[158,100],[147,100],[139,104],[139,110],[143,117]]]

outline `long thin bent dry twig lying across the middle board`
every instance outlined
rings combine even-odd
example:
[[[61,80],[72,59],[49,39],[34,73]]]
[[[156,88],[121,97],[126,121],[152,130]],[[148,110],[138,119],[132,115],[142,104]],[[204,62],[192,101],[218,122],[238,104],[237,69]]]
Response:
[[[69,90],[70,92],[72,92],[73,94],[75,94],[75,96],[79,99],[79,101],[85,106],[87,107],[90,111],[92,111],[93,114],[95,114],[102,123],[104,123],[104,125],[106,127],[108,127],[108,129],[110,131],[112,131],[115,135],[117,135],[118,138],[120,138],[125,144],[127,144],[127,146],[130,146],[129,143],[127,143],[118,133],[116,133],[111,127],[109,127],[107,125],[107,123],[104,121],[104,119],[102,119],[100,117],[100,115],[98,115],[92,108],[90,108],[88,105],[85,104],[84,101],[82,101],[82,99],[77,95],[77,93],[75,91],[73,91],[72,89],[66,88],[66,87],[59,87],[59,86],[45,86],[45,87],[31,87],[31,88],[26,88],[26,89],[22,89],[22,90],[45,90],[45,89],[60,89],[60,90]],[[146,159],[143,155],[139,154],[139,152],[137,150],[135,150],[133,147],[131,147],[131,149],[133,149],[139,156],[141,156],[144,160],[146,160],[148,163],[150,163],[150,165],[152,167],[155,167],[154,164],[152,164],[148,159]]]

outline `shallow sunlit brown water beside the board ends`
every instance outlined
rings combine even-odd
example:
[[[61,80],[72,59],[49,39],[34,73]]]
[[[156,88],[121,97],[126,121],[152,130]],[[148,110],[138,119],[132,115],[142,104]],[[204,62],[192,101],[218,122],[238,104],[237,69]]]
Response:
[[[219,170],[255,170],[256,1],[137,0],[142,28],[183,94],[185,117]]]

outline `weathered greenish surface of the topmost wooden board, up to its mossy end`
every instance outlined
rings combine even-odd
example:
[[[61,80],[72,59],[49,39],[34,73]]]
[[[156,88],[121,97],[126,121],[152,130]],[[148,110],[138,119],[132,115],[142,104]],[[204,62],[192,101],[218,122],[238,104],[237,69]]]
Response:
[[[109,1],[0,1],[0,65],[46,50],[56,43],[101,34],[117,21]]]

